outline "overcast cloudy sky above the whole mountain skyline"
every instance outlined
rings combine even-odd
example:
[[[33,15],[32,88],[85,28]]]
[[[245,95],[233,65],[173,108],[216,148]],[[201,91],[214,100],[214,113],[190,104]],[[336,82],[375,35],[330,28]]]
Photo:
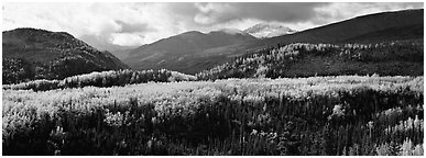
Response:
[[[2,30],[68,32],[100,49],[150,44],[187,31],[281,23],[303,31],[423,3],[3,3]]]

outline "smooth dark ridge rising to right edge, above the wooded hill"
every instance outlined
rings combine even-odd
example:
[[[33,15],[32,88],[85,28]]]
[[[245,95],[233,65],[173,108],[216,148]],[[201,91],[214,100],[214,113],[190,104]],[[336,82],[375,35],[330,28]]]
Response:
[[[401,10],[380,12],[367,15],[356,16],[353,19],[330,23],[327,25],[305,30],[290,36],[277,36],[265,41],[264,43],[343,43],[351,42],[349,38],[383,31],[391,27],[404,25],[422,24],[423,25],[424,10]],[[423,37],[423,34],[415,37]]]

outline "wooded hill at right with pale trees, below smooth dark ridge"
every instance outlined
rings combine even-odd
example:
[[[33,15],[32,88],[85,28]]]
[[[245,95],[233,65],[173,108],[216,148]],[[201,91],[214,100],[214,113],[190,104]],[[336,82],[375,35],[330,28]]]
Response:
[[[206,80],[373,74],[423,76],[423,41],[422,44],[407,41],[375,45],[296,43],[247,54],[197,76]]]

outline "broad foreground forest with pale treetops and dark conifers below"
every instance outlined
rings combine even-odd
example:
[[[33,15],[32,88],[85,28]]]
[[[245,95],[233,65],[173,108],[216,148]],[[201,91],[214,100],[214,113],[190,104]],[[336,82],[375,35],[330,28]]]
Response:
[[[423,77],[3,90],[3,155],[423,155]]]

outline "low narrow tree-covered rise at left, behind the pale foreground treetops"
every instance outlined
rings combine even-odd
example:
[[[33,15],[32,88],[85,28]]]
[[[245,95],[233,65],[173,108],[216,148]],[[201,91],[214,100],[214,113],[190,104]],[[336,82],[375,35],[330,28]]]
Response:
[[[112,87],[145,82],[194,81],[196,77],[190,75],[161,70],[109,70],[67,77],[63,80],[32,80],[15,84],[4,84],[3,89],[46,91],[66,88]]]

